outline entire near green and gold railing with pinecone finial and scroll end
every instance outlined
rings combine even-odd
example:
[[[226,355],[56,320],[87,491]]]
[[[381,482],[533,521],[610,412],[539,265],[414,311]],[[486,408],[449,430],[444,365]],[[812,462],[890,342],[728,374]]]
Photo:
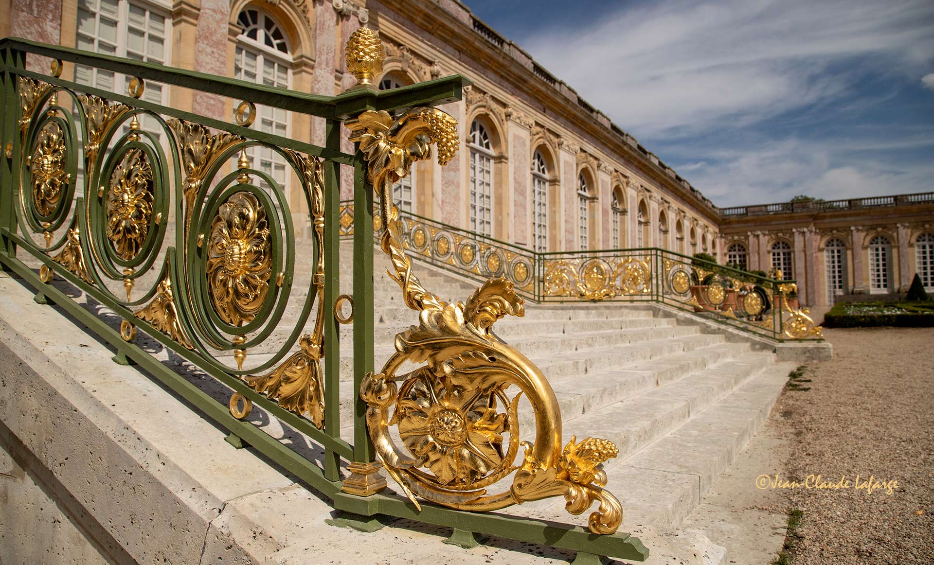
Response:
[[[27,70],[27,54],[50,58],[50,72]],[[454,528],[459,544],[486,533],[571,549],[581,562],[647,558],[639,540],[616,531],[621,503],[604,488],[602,463],[616,446],[573,436],[565,444],[545,374],[493,332],[498,319],[522,316],[523,295],[541,295],[540,259],[429,219],[400,220],[388,206],[374,216],[374,191],[387,202],[432,146],[441,164],[460,147],[457,122],[432,105],[459,100],[463,78],[377,91],[382,46],[366,28],[347,43],[358,83],[337,96],[21,39],[0,40],[0,56],[0,265],[34,288],[37,302],[59,304],[114,346],[116,362],[138,364],[229,431],[232,445],[252,445],[317,488],[348,525],[372,528],[388,515]],[[65,63],[125,74],[128,91],[63,78]],[[227,97],[235,120],[147,102],[147,81]],[[323,119],[324,145],[257,131],[257,105]],[[344,127],[353,154],[340,150]],[[284,164],[287,179],[269,174],[262,155]],[[341,166],[354,170],[356,233],[339,201]],[[379,371],[374,222],[417,312]],[[300,246],[295,233],[305,225],[311,241]],[[354,242],[347,294],[342,234]],[[464,303],[442,302],[421,286],[409,254],[483,284]],[[73,300],[76,290],[108,315]],[[344,385],[356,398],[352,437],[340,431],[341,323],[353,325],[353,379]],[[153,341],[223,392],[157,360]],[[401,373],[406,361],[417,369]],[[533,406],[533,433],[518,428],[520,397]],[[267,433],[263,422],[274,419],[323,459]],[[403,496],[384,490],[380,470]],[[575,515],[597,502],[587,527],[489,512],[553,496]]]

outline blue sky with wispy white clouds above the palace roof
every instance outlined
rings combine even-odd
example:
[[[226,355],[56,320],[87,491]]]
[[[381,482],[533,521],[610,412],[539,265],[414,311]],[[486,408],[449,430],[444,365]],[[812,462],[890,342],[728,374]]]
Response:
[[[934,0],[467,0],[716,205],[934,191]]]

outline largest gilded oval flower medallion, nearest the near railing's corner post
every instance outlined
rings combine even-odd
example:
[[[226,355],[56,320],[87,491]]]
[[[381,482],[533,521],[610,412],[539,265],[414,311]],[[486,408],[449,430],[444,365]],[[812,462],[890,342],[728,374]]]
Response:
[[[273,274],[269,220],[248,191],[218,208],[207,243],[207,288],[218,316],[234,326],[256,318]]]

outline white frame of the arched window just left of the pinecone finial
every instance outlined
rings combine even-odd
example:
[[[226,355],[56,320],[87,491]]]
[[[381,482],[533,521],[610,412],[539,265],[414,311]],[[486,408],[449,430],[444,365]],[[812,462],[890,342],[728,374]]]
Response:
[[[266,84],[263,79],[264,78],[263,70],[265,68],[266,62],[268,61],[272,64],[282,65],[286,68],[286,84],[284,86],[281,84],[277,84],[278,78],[275,77],[274,81],[276,82],[276,84],[273,84],[272,86],[275,86],[278,88],[290,89],[291,84],[292,84],[292,66],[294,65],[294,59],[292,57],[291,45],[289,42],[289,35],[285,33],[285,29],[282,27],[282,25],[278,21],[276,21],[276,18],[271,16],[268,12],[266,12],[262,8],[256,7],[256,6],[247,6],[247,7],[244,7],[242,10],[240,10],[240,12],[243,13],[248,10],[255,10],[258,13],[257,25],[258,25],[260,33],[257,35],[256,39],[248,37],[246,33],[244,33],[246,30],[241,30],[240,35],[237,35],[236,47],[234,48],[233,52],[234,52],[234,69],[239,69],[239,72],[234,70],[234,78],[241,78],[243,80],[249,80],[248,77],[244,77],[244,73],[246,72],[246,67],[241,63],[241,60],[240,60],[241,52],[244,53],[244,56],[246,56],[246,53],[249,52],[252,55],[256,56],[256,68],[255,68],[256,76],[254,77],[254,81],[256,84]],[[237,21],[239,21],[239,16],[240,14],[237,15]],[[284,42],[287,52],[283,52],[279,49],[266,45],[265,42],[260,38],[261,35],[266,34],[267,28],[265,26],[265,22],[267,20],[271,21],[272,24],[278,28],[279,33],[284,37],[284,39],[282,39],[281,41]],[[276,111],[285,112],[283,120],[276,120]],[[266,120],[268,120],[271,123],[269,128],[263,127]],[[254,122],[254,125],[253,125],[254,129],[256,129],[257,131],[261,131],[261,132],[265,132],[269,134],[276,134],[276,125],[279,125],[279,124],[285,126],[285,134],[283,136],[290,137],[291,136],[291,113],[289,110],[283,110],[282,108],[276,108],[273,106],[264,106],[261,104],[256,105],[256,121]],[[258,151],[260,154],[259,159],[257,158]],[[276,167],[279,167],[279,166],[282,167],[282,171],[283,171],[282,180],[281,182],[279,181],[277,182],[279,182],[279,186],[282,189],[283,193],[285,194],[286,202],[291,203],[290,185],[291,185],[292,171],[291,171],[291,167],[289,166],[289,163],[286,162],[286,160],[281,155],[279,155],[272,149],[257,148],[255,146],[247,148],[247,158],[250,162],[250,167],[260,170],[260,171],[263,170],[263,163],[268,162],[269,171],[267,171],[267,174],[270,177],[273,177],[273,179],[276,179]],[[265,182],[262,182],[262,181],[260,181],[260,185],[258,186],[262,186],[265,189],[270,189],[270,187],[266,187]]]

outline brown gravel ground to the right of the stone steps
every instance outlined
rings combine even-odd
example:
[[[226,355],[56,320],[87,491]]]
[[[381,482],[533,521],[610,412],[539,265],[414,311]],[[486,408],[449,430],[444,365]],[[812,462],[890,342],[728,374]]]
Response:
[[[792,441],[780,489],[804,515],[794,565],[934,564],[934,328],[825,330],[833,360],[805,366],[777,414]],[[884,487],[856,489],[872,475]],[[892,485],[894,487],[894,485]]]

